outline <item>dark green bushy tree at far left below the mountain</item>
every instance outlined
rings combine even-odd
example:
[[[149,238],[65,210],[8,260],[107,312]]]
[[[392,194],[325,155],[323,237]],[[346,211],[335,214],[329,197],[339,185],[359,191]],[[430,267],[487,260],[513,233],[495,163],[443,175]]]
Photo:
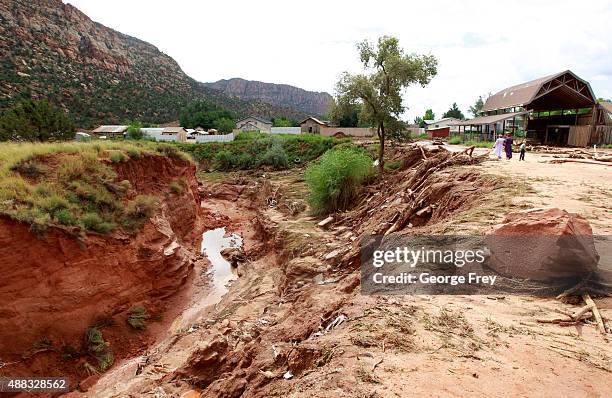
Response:
[[[47,101],[23,101],[0,114],[0,141],[49,141],[74,138],[74,123]]]

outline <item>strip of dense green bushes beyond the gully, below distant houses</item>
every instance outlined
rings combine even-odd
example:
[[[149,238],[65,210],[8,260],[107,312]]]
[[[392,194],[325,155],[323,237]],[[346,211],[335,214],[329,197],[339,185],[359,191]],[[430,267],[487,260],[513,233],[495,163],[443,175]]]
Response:
[[[240,133],[232,142],[176,145],[204,168],[225,171],[268,166],[279,170],[300,166],[348,141],[314,134]]]

